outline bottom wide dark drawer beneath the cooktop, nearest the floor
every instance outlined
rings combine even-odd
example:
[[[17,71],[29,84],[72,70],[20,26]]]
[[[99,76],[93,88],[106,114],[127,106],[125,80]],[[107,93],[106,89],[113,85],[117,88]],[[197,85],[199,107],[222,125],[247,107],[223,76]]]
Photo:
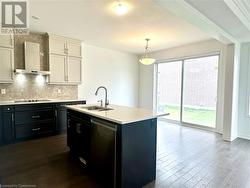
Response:
[[[53,121],[40,124],[20,125],[15,127],[16,139],[32,137],[36,135],[52,133],[54,131]]]

